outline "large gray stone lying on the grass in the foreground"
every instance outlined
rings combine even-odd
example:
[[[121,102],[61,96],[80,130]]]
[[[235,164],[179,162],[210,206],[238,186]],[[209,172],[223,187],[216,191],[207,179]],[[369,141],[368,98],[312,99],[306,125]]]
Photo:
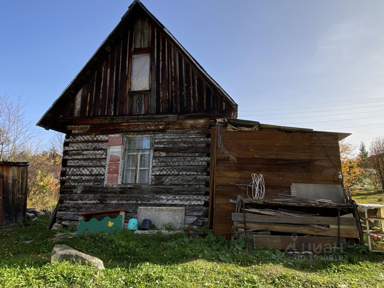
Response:
[[[64,260],[80,260],[81,263],[90,262],[99,270],[104,269],[104,263],[99,258],[74,250],[67,245],[55,245],[51,253],[51,263],[55,260],[63,262]]]

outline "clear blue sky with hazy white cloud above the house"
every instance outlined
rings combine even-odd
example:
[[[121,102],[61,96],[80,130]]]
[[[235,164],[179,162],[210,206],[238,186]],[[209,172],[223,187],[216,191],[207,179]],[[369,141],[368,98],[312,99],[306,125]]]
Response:
[[[351,132],[353,144],[384,136],[383,1],[142,2],[238,103],[238,118]],[[2,1],[0,94],[22,93],[35,123],[130,3]]]

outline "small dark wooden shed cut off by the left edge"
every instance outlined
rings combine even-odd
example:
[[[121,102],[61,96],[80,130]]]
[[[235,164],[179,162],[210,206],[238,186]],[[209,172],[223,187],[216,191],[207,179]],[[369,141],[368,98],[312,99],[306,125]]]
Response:
[[[0,162],[0,225],[25,220],[28,165],[28,162]]]

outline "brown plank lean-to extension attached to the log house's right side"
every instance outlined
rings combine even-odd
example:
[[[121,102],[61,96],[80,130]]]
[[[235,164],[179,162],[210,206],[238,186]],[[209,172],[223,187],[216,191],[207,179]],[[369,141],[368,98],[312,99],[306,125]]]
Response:
[[[225,119],[211,128],[210,212],[215,235],[232,231],[237,195],[251,174],[263,174],[265,199],[290,195],[292,183],[340,184],[339,141],[349,133]],[[335,180],[336,179],[336,180]],[[231,184],[232,183],[232,184]],[[321,198],[319,196],[319,198]]]

